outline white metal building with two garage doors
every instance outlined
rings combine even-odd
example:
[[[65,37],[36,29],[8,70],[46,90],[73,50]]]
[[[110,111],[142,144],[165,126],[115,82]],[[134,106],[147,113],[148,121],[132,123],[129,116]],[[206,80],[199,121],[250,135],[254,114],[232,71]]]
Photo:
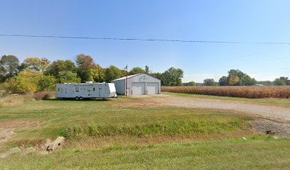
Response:
[[[125,87],[127,80],[127,95],[146,95],[146,94],[161,94],[161,80],[151,77],[147,74],[135,74],[119,79],[115,79],[112,83],[115,84],[117,94],[125,95]]]

